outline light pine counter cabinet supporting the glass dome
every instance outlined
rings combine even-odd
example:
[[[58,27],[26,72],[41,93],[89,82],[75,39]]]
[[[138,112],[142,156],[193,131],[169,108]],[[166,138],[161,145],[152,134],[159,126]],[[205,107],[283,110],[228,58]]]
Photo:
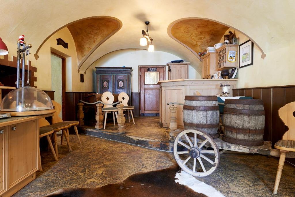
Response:
[[[0,119],[0,196],[12,196],[39,169],[38,119],[53,114]]]

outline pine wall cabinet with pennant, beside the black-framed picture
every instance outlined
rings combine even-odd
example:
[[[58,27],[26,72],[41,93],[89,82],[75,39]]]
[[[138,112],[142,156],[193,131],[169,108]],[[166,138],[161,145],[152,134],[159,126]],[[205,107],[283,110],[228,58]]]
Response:
[[[238,66],[238,47],[239,45],[222,45],[222,47],[216,49],[218,70],[233,69]],[[230,57],[232,61],[229,61],[229,53],[234,51],[236,52],[235,57]]]

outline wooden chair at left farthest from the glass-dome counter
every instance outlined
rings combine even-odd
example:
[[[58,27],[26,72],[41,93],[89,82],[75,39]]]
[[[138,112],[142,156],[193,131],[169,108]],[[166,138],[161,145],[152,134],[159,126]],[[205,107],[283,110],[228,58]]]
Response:
[[[55,110],[57,112],[58,111],[60,112],[61,111],[61,105],[58,102],[54,101],[54,100],[52,101],[52,103],[53,103],[53,106],[55,107]],[[79,125],[79,121],[63,121],[63,119],[61,119],[58,116],[59,113],[57,113],[57,112],[54,113],[54,115],[52,117],[52,123],[53,124],[66,124],[66,125],[69,126],[68,128],[73,126],[74,130],[75,130],[75,133],[77,135],[79,144],[82,146],[80,136],[79,136],[79,133],[78,133],[78,129],[77,129],[77,126]],[[69,136],[69,129],[68,128],[67,128],[67,136]],[[62,144],[63,144],[63,133],[61,133],[61,139],[60,139],[60,145],[62,145]]]

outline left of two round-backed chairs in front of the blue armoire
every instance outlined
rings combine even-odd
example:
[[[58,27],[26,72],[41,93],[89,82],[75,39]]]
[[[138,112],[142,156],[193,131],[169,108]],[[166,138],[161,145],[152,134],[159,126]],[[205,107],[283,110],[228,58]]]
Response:
[[[101,95],[101,101],[106,104],[112,104],[114,100],[115,100],[115,97],[111,92],[104,92]],[[113,113],[114,125],[116,125],[115,114],[117,117],[118,108],[114,108],[112,105],[104,105],[101,111],[103,112],[102,117],[104,117],[104,129],[106,129],[106,116],[108,113],[111,113],[111,112]]]

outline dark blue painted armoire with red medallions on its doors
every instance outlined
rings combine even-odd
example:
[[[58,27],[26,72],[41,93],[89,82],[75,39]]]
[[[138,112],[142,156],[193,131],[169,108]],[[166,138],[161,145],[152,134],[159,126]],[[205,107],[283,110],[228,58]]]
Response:
[[[112,94],[120,94],[121,92],[125,92],[130,98],[128,102],[131,101],[131,67],[95,68],[97,93],[111,92]]]

